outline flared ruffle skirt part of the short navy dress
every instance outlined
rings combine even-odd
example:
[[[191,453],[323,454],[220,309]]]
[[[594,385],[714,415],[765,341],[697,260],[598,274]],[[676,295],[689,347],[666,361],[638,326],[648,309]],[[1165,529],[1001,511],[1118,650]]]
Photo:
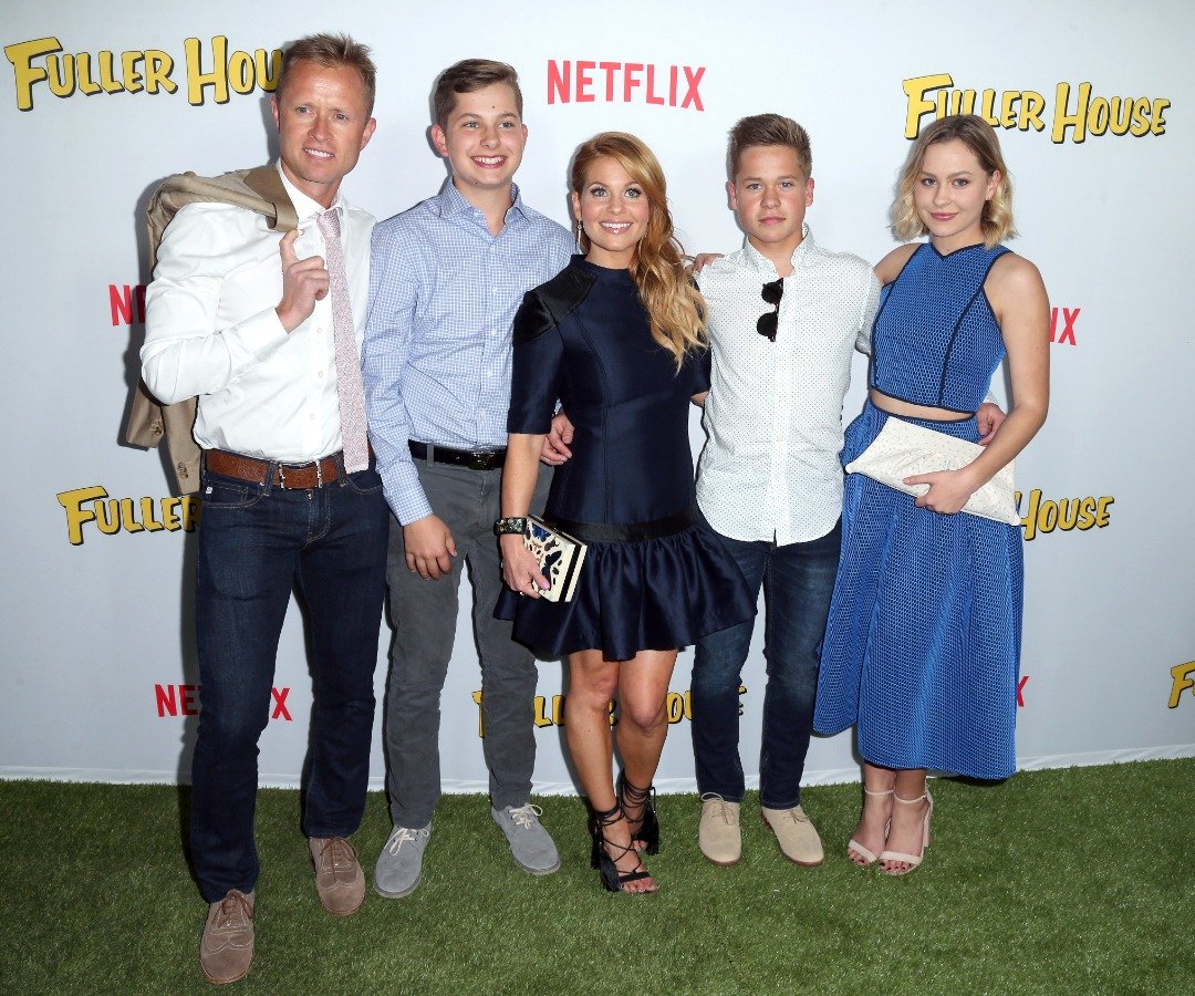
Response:
[[[560,527],[588,546],[572,600],[520,598],[507,588],[495,611],[514,619],[515,640],[540,656],[600,649],[606,660],[630,660],[755,616],[754,593],[695,509],[676,532],[633,542],[590,542],[578,524]]]

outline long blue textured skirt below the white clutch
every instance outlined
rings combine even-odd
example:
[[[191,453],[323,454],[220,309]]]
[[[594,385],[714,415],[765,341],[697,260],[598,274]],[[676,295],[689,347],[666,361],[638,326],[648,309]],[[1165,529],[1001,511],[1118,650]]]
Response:
[[[846,430],[842,463],[889,417],[869,402]],[[974,418],[908,421],[979,439]],[[1016,768],[1021,530],[913,502],[846,476],[814,728],[857,725],[859,753],[884,768],[1006,778]]]

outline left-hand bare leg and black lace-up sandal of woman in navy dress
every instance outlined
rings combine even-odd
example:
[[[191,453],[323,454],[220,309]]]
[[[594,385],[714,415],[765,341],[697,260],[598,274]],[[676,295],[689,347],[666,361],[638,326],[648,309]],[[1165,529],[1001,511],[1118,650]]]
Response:
[[[621,670],[631,664],[633,661],[605,660],[601,650],[569,654],[564,733],[581,788],[595,811],[612,809],[617,805],[609,702],[618,692]],[[614,860],[620,873],[633,872],[639,867],[639,857],[631,841],[631,827],[625,819],[607,824],[603,835],[606,853]],[[650,878],[626,882],[627,892],[654,892],[655,887],[656,884]]]

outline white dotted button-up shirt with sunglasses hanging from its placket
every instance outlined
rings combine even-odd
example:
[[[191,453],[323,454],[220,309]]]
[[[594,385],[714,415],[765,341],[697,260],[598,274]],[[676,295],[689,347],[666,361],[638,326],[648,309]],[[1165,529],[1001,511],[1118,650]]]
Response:
[[[760,293],[777,276],[747,242],[698,275],[713,369],[697,499],[723,536],[786,545],[826,536],[842,511],[842,399],[853,350],[871,352],[880,282],[807,225],[770,342],[755,323],[773,308]]]

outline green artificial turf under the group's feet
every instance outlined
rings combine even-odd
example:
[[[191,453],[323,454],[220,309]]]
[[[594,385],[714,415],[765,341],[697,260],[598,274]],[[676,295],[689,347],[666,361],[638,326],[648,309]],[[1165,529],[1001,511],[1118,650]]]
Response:
[[[658,800],[661,891],[601,891],[583,805],[537,800],[556,875],[510,861],[480,796],[446,796],[418,890],[319,906],[298,793],[263,790],[245,992],[1195,992],[1195,760],[933,783],[933,843],[903,879],[850,864],[857,786],[809,788],[826,863],[783,860],[743,803],[743,861],[697,849],[695,796]],[[201,992],[206,906],[185,789],[0,783],[0,991]],[[390,830],[369,796],[367,876]]]

